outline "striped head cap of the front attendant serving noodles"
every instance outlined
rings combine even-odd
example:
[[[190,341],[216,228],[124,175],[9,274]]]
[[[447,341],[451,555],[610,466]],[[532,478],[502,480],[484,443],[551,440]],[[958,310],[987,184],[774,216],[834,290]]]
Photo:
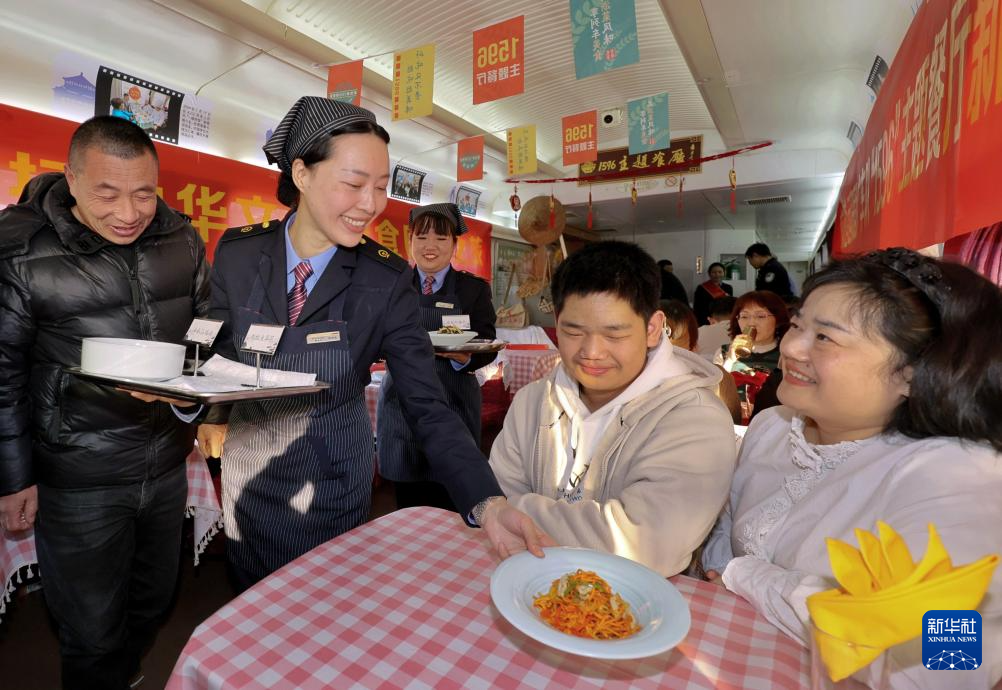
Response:
[[[272,138],[262,148],[268,162],[278,163],[283,172],[292,172],[293,161],[302,158],[314,142],[353,122],[377,123],[374,114],[353,103],[303,96],[282,118]]]

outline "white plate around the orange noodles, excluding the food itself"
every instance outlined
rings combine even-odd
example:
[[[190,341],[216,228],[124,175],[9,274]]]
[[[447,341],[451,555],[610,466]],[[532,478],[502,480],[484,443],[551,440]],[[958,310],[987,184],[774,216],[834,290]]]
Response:
[[[689,629],[688,604],[654,571],[620,556],[591,549],[548,548],[546,558],[522,552],[501,562],[491,575],[491,599],[513,626],[554,649],[594,659],[640,659],[665,652]],[[532,605],[550,584],[578,568],[597,573],[630,607],[640,631],[621,640],[589,640],[562,633]]]

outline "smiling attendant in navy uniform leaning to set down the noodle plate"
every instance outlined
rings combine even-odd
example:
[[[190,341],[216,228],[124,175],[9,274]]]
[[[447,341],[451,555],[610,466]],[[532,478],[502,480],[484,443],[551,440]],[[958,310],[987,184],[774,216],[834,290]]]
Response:
[[[507,505],[462,422],[446,407],[434,355],[419,318],[410,266],[366,239],[386,207],[389,134],[371,112],[303,97],[265,145],[282,170],[281,222],[233,228],[221,237],[210,313],[225,323],[220,354],[238,349],[255,323],[286,326],[267,367],[316,374],[327,392],[210,411],[199,443],[222,450],[227,558],[247,587],[366,520],[373,436],[364,390],[385,358],[432,472],[463,515],[482,525],[504,558],[548,538]]]

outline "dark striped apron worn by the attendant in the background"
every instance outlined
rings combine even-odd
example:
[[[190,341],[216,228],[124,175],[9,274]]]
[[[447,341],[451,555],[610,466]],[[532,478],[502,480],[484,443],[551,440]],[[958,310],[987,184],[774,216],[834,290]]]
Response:
[[[420,295],[421,324],[426,330],[442,327],[442,316],[462,313],[456,294],[435,292]],[[451,304],[452,306],[442,306]],[[445,390],[446,404],[459,415],[480,445],[480,385],[469,369],[457,372],[452,360],[435,358],[435,373]],[[421,452],[404,419],[400,398],[390,373],[383,378],[378,403],[376,443],[379,446],[379,473],[394,482],[434,481],[428,459]]]

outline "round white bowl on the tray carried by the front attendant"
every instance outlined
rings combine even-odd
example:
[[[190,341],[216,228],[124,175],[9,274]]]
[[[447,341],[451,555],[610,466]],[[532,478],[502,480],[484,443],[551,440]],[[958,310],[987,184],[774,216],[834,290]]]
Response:
[[[127,337],[85,337],[80,369],[116,379],[166,381],[181,375],[184,346]]]

